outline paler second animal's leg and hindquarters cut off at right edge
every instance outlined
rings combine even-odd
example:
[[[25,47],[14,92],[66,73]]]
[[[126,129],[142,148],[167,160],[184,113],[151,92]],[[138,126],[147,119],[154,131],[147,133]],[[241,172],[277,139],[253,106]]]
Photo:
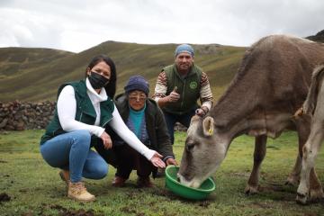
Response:
[[[311,88],[303,110],[311,115],[311,133],[302,148],[301,182],[297,190],[297,202],[305,204],[324,197],[320,181],[314,171],[315,160],[324,139],[324,65],[315,68],[311,77]]]

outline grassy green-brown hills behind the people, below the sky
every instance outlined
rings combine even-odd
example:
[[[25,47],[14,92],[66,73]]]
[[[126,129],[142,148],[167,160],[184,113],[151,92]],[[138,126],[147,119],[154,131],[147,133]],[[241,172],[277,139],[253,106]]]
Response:
[[[320,35],[308,38],[322,41]],[[83,78],[88,62],[98,54],[110,56],[116,64],[117,94],[123,91],[130,76],[139,74],[148,79],[152,95],[161,68],[174,62],[176,45],[106,41],[80,53],[56,49],[0,48],[0,102],[54,101],[58,86]],[[237,72],[247,48],[193,44],[193,49],[194,62],[209,76],[216,101]]]

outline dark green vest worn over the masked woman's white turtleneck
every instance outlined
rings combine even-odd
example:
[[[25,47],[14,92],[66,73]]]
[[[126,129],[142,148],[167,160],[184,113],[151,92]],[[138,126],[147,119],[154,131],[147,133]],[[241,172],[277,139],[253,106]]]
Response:
[[[63,84],[58,88],[58,95],[61,93],[62,89],[66,85],[72,85],[75,90],[76,96],[76,121],[80,121],[86,124],[94,125],[94,121],[96,119],[96,113],[94,110],[94,106],[91,103],[89,96],[86,94],[86,85],[85,80],[80,80],[78,82],[72,82]],[[103,101],[100,103],[100,126],[104,127],[108,121],[112,120],[112,112],[113,112],[113,102],[108,98],[107,101]],[[58,120],[58,107],[56,107],[54,112],[54,117],[52,121],[49,122],[49,125],[46,128],[45,134],[40,139],[40,145],[46,142],[49,139],[52,139],[59,134],[66,133],[67,131],[62,129],[62,126]],[[97,143],[98,137],[92,136],[91,146]]]

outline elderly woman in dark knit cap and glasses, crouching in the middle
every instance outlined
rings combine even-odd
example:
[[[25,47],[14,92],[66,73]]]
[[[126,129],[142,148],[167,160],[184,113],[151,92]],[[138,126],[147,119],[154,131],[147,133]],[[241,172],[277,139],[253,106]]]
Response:
[[[148,98],[148,82],[142,76],[131,76],[124,89],[125,93],[117,95],[115,98],[115,104],[121,113],[122,120],[142,143],[163,156],[166,165],[176,165],[163,112],[153,99]],[[110,150],[105,150],[101,146],[96,148],[108,163],[117,167],[112,185],[123,186],[130,177],[131,171],[136,169],[138,186],[151,187],[153,184],[149,175],[152,173],[155,177],[157,168],[148,163],[145,157],[137,151],[125,145],[123,140],[118,138],[112,140],[115,161],[112,161]]]

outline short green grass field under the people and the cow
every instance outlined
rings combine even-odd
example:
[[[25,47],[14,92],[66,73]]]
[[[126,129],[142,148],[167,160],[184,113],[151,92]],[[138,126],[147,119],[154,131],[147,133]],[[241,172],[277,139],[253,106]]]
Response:
[[[43,130],[2,132],[0,134],[0,193],[11,197],[0,202],[0,215],[322,215],[324,202],[301,206],[294,201],[296,186],[284,185],[297,154],[294,132],[268,139],[263,163],[260,193],[246,196],[244,188],[253,161],[254,139],[235,139],[215,178],[216,190],[205,201],[192,202],[176,197],[165,188],[164,178],[154,180],[155,188],[135,187],[132,174],[127,186],[111,185],[115,170],[103,180],[85,180],[96,201],[69,200],[58,169],[47,165],[39,153]],[[176,132],[174,151],[180,162],[184,132]],[[317,159],[317,172],[323,184],[324,150]],[[133,172],[134,173],[134,172]],[[75,213],[75,214],[73,214]]]

